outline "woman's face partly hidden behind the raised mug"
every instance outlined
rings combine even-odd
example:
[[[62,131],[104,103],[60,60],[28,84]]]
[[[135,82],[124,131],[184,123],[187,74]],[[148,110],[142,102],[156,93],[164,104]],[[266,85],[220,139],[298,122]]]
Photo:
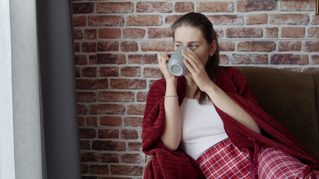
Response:
[[[175,29],[174,50],[180,46],[190,47],[204,67],[208,56],[215,52],[215,50],[213,52],[210,51],[211,49],[215,49],[213,47],[214,43],[208,44],[202,32],[194,27],[178,27]]]

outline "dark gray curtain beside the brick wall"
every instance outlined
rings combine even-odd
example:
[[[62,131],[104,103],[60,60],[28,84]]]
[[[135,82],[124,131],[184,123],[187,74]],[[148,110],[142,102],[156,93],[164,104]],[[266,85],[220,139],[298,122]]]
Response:
[[[72,0],[37,1],[36,7],[46,164],[43,171],[48,179],[79,179]]]

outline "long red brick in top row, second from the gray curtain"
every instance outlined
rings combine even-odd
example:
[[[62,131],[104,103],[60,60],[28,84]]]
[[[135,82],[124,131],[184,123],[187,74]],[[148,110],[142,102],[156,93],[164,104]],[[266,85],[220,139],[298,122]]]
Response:
[[[96,4],[97,13],[127,13],[134,12],[133,2],[107,2]]]

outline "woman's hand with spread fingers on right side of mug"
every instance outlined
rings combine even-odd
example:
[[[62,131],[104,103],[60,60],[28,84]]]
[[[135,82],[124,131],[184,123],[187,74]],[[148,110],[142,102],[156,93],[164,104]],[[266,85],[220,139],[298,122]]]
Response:
[[[191,76],[196,82],[197,86],[201,91],[207,91],[213,85],[211,79],[209,79],[205,67],[199,61],[197,55],[187,48],[187,51],[182,49],[182,55],[184,58],[184,63],[188,68],[186,75]]]

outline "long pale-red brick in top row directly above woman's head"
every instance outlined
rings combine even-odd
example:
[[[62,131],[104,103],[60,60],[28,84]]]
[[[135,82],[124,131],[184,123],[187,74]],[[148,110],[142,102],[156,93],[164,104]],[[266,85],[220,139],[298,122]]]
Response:
[[[196,2],[197,12],[234,12],[233,2]]]

